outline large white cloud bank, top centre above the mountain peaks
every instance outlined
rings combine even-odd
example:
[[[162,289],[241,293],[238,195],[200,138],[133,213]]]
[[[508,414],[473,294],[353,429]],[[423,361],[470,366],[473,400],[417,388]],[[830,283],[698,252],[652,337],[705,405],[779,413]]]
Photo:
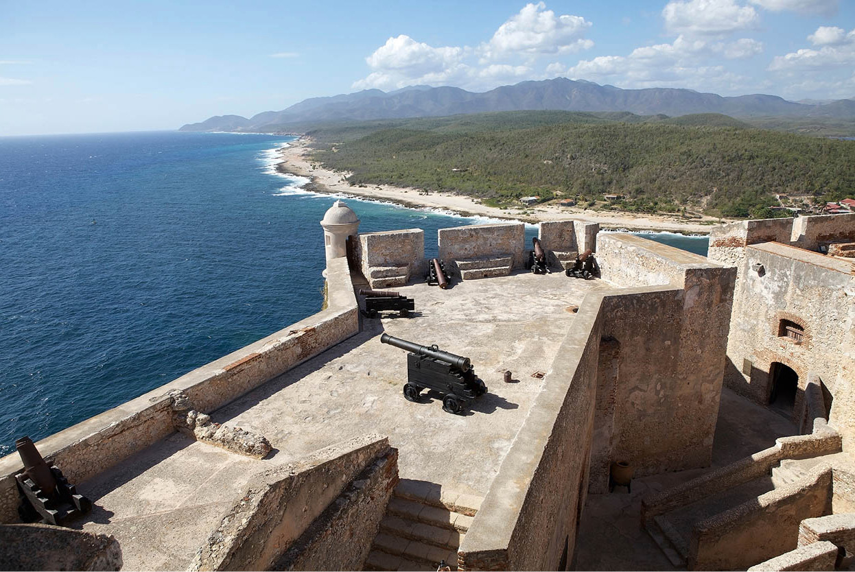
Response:
[[[534,65],[546,55],[563,55],[593,46],[584,38],[591,22],[556,15],[545,3],[528,3],[477,47],[432,46],[405,34],[365,58],[371,72],[355,89],[398,89],[425,84],[489,89],[502,83],[542,79]]]

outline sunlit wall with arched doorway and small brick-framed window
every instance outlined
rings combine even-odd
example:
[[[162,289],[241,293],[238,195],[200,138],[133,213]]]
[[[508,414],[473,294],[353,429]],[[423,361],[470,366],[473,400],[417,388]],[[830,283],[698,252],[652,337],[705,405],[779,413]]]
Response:
[[[762,265],[762,270],[757,265]],[[758,268],[755,270],[754,268]],[[834,401],[830,423],[844,442],[855,437],[855,277],[852,264],[793,246],[767,243],[745,249],[728,339],[725,383],[760,404],[769,403],[772,363],[799,375],[793,420],[799,422],[805,386],[819,380]],[[781,320],[804,328],[801,343],[779,335]]]

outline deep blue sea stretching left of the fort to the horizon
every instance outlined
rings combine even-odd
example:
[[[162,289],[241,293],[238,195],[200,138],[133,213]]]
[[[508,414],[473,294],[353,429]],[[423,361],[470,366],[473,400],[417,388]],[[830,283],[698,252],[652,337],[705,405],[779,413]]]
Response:
[[[0,138],[0,456],[320,310],[335,198],[275,172],[292,139]],[[348,202],[360,230],[425,229],[428,257],[437,229],[485,221]]]

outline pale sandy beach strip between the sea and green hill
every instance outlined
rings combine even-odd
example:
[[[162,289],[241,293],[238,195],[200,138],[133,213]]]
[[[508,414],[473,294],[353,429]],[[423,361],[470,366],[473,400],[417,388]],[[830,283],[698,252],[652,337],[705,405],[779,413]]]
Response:
[[[594,211],[577,207],[559,207],[545,204],[532,207],[520,206],[518,209],[498,209],[481,204],[477,198],[455,195],[446,192],[423,194],[415,188],[377,185],[369,187],[350,186],[345,177],[349,173],[330,171],[311,163],[308,155],[308,139],[298,139],[280,150],[282,162],[276,170],[283,174],[297,174],[308,177],[311,182],[306,186],[310,191],[347,194],[361,198],[371,198],[388,203],[398,203],[416,209],[441,209],[458,215],[480,215],[497,219],[509,219],[537,223],[540,221],[560,221],[575,219],[599,222],[603,228],[626,229],[631,231],[669,231],[684,234],[709,234],[711,224],[719,219],[705,216],[692,221],[681,220],[668,215],[634,215],[631,213]],[[420,194],[421,193],[421,194]]]

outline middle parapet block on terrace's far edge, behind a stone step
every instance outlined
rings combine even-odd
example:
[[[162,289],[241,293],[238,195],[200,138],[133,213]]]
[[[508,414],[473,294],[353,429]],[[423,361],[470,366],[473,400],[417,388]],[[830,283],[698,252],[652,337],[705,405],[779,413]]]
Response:
[[[480,257],[510,256],[513,268],[525,264],[526,226],[482,224],[468,227],[440,228],[439,258],[457,271],[455,260]]]

